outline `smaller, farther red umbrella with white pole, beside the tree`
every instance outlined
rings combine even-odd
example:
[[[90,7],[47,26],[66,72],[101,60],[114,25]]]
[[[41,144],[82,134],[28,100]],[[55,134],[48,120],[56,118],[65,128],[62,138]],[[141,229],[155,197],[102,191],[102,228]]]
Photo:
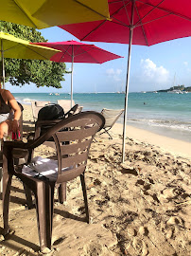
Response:
[[[96,47],[95,45],[87,45],[77,41],[65,41],[54,43],[31,43],[38,46],[47,46],[60,49],[59,54],[55,54],[50,60],[57,63],[72,63],[71,75],[71,107],[73,101],[73,64],[103,64],[114,59],[123,58],[113,54],[107,50]]]

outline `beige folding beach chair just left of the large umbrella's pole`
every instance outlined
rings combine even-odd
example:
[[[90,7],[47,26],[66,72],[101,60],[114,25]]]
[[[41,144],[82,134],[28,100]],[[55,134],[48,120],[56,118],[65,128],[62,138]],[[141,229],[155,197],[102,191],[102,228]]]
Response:
[[[109,131],[113,128],[114,123],[120,118],[123,114],[124,109],[107,109],[103,108],[101,115],[105,118],[105,125],[103,127],[103,132],[100,134],[107,134],[110,139],[113,139]]]

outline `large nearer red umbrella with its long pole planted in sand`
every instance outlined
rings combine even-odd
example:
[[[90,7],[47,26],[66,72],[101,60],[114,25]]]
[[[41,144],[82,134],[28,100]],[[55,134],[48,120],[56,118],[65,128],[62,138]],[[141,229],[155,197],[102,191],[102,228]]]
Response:
[[[111,20],[65,25],[61,28],[80,40],[129,44],[122,150],[124,161],[131,44],[152,46],[191,36],[191,1],[108,0],[108,3]]]

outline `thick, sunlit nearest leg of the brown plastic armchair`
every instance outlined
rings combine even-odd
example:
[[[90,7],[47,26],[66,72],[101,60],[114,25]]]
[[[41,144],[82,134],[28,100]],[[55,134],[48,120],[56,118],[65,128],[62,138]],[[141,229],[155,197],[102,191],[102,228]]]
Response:
[[[42,251],[45,247],[51,249],[54,188],[55,184],[52,185],[42,181],[37,183],[37,191],[34,192]]]

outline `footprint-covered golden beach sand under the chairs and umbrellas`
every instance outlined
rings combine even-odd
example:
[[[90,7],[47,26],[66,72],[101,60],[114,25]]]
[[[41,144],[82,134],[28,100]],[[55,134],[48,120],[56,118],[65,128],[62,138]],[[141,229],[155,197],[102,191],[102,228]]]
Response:
[[[25,136],[34,129],[25,105]],[[121,164],[122,125],[113,140],[96,136],[86,169],[91,224],[84,222],[79,178],[67,183],[67,200],[57,198],[52,251],[46,255],[182,255],[191,251],[190,143],[127,127],[126,162]],[[53,155],[41,146],[35,155]],[[13,178],[8,240],[1,255],[41,255],[35,209],[26,210],[22,183]],[[2,232],[2,212],[0,217]]]

